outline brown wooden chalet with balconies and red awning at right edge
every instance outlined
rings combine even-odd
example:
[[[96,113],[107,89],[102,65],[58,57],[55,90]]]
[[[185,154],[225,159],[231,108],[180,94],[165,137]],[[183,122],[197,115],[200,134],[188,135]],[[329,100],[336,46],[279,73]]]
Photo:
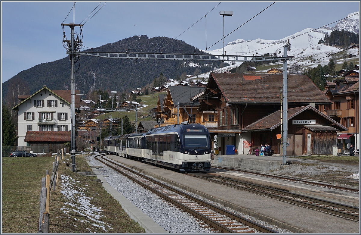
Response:
[[[351,72],[351,73],[350,73]],[[353,74],[352,71],[348,73]],[[347,74],[348,74],[347,73]],[[332,101],[332,105],[327,108],[319,106],[318,110],[344,125],[346,131],[337,132],[339,148],[346,149],[351,144],[358,146],[360,143],[359,128],[359,78],[346,76],[333,81],[335,86],[325,86],[323,93]]]

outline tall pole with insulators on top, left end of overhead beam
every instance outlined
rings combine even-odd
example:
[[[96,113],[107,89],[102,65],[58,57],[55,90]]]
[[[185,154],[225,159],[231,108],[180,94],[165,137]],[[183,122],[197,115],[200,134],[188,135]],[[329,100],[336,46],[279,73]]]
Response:
[[[79,26],[80,30],[82,30],[83,25],[81,24],[75,24],[70,23],[70,24],[61,24],[61,26],[63,26],[63,44],[67,47],[68,50],[68,54],[70,55],[70,63],[71,63],[71,110],[70,110],[70,120],[71,120],[71,128],[70,128],[70,133],[71,133],[71,139],[70,139],[70,149],[71,149],[71,159],[72,159],[72,170],[75,172],[75,90],[74,90],[74,83],[75,83],[75,70],[74,70],[74,63],[75,63],[75,52],[76,51],[80,51],[79,48],[82,44],[82,40],[79,39],[79,37],[77,36],[77,40],[74,41],[74,28],[75,26]],[[65,40],[65,31],[64,31],[64,26],[69,26],[70,27],[70,41],[69,40]],[[76,45],[75,45],[76,43]]]

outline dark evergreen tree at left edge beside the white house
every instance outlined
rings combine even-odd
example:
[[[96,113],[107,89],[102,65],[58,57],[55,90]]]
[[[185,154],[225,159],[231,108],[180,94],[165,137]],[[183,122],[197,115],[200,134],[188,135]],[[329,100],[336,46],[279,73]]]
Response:
[[[3,103],[3,146],[15,146],[16,133],[15,124],[11,117],[9,107]]]

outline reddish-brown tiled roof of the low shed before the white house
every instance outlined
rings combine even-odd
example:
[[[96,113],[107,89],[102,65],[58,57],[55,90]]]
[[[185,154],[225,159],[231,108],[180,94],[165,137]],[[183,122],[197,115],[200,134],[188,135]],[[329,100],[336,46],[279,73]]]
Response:
[[[68,142],[70,131],[27,131],[25,142]]]

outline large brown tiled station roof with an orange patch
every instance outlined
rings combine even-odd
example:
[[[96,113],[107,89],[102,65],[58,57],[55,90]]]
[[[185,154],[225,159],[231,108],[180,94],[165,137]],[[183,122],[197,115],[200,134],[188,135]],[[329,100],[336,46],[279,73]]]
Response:
[[[217,83],[226,102],[280,103],[281,101],[283,74],[211,73],[207,89],[216,88],[210,87],[211,80]],[[306,75],[288,74],[287,95],[289,103],[331,103]],[[217,96],[219,97],[218,93],[213,94],[207,90],[203,99]]]

